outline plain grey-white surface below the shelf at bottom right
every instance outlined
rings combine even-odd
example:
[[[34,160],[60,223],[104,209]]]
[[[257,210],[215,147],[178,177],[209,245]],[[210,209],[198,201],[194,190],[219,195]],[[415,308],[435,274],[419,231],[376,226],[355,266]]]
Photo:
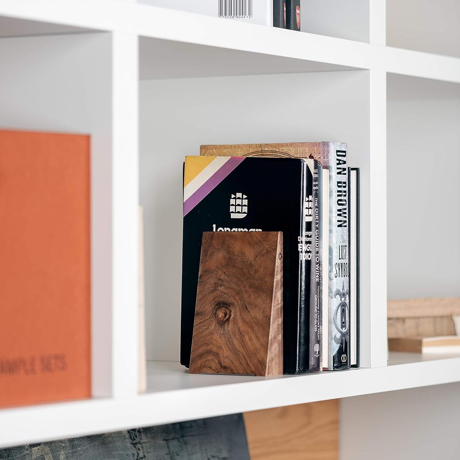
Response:
[[[457,460],[460,384],[344,398],[340,460]]]

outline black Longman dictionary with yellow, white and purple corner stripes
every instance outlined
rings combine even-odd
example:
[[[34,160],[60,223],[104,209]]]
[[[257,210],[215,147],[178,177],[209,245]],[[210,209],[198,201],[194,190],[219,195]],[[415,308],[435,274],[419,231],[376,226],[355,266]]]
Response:
[[[309,371],[312,159],[187,156],[181,363],[189,366],[204,231],[283,232],[285,374]],[[219,273],[216,273],[219,277]]]

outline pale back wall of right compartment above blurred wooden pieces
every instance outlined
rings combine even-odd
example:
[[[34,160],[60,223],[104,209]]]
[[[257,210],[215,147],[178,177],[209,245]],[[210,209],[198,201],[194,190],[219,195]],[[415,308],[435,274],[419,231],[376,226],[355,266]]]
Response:
[[[388,75],[388,299],[460,296],[460,85]]]

